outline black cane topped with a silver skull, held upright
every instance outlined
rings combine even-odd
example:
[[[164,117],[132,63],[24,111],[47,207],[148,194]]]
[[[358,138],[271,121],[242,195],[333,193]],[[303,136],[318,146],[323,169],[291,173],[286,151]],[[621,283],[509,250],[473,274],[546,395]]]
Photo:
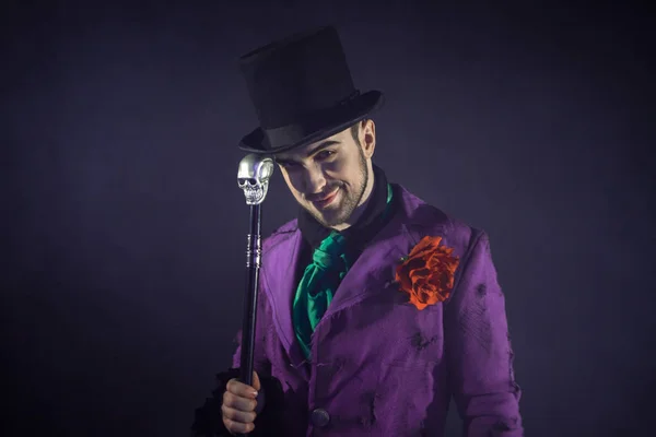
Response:
[[[239,380],[253,386],[253,361],[255,351],[255,327],[257,297],[259,292],[259,268],[261,261],[261,204],[269,190],[273,175],[273,160],[266,155],[248,154],[239,162],[237,181],[244,190],[246,204],[250,208],[250,229],[246,246],[246,292],[242,326],[242,356]],[[242,434],[244,436],[244,434]]]

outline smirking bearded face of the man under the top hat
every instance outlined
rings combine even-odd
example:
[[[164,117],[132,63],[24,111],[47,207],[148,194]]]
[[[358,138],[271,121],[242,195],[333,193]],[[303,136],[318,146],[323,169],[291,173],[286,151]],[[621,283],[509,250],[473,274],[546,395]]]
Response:
[[[326,227],[352,224],[373,188],[375,128],[359,123],[358,141],[345,129],[305,147],[276,155],[296,201]],[[350,220],[351,218],[351,220]]]

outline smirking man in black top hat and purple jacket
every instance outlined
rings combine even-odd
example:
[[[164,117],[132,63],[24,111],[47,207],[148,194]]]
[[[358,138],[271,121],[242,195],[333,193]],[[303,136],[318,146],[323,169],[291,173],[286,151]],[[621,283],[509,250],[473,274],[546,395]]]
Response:
[[[442,436],[453,397],[465,435],[522,436],[488,236],[373,164],[383,95],[354,88],[336,29],[241,63],[260,127],[239,146],[301,208],[262,245],[253,387],[237,347],[195,435]]]

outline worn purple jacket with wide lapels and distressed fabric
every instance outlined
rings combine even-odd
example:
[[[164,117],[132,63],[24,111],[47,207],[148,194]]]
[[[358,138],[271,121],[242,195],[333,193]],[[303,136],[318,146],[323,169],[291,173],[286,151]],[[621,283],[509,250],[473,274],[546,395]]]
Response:
[[[443,436],[452,395],[465,436],[523,436],[520,390],[490,243],[395,185],[402,204],[342,280],[306,365],[292,327],[296,221],[262,244],[255,369],[284,390],[284,435]],[[460,258],[445,303],[418,310],[393,284],[425,236]],[[237,335],[237,339],[239,335]],[[239,347],[233,366],[239,366]]]

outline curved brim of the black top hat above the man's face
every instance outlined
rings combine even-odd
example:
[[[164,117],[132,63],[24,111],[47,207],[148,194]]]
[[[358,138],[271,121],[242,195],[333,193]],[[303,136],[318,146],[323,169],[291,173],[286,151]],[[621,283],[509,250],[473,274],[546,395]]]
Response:
[[[385,97],[382,92],[375,90],[368,91],[353,98],[348,106],[340,108],[340,110],[336,110],[336,115],[330,117],[331,121],[295,141],[279,146],[267,147],[267,135],[265,130],[260,127],[245,135],[239,142],[238,147],[245,152],[263,154],[289,152],[294,149],[303,147],[307,144],[332,137],[358,121],[365,119],[370,114],[379,109],[384,103]]]

